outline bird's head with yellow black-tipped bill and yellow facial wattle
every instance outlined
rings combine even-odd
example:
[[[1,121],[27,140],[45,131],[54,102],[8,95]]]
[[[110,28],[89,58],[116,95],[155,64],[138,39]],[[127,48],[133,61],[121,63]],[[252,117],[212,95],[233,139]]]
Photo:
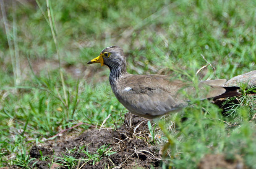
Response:
[[[123,49],[118,46],[110,46],[105,48],[97,58],[92,59],[87,64],[92,63],[100,63],[100,66],[106,65],[109,68],[126,66]]]

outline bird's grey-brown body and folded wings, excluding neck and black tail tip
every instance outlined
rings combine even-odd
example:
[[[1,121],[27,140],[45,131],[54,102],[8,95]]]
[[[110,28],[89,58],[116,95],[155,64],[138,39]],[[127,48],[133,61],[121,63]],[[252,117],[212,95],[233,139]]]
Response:
[[[219,86],[225,81],[200,82],[197,97],[205,99],[225,93],[225,88]],[[120,103],[140,116],[159,116],[178,110],[186,106],[188,101],[182,91],[192,96],[196,94],[193,83],[170,81],[168,76],[163,75],[128,75],[118,81],[117,86],[114,93]]]

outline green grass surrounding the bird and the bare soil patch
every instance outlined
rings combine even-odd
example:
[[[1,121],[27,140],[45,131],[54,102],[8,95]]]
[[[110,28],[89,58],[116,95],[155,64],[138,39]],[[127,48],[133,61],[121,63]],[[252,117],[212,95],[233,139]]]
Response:
[[[10,26],[13,21],[17,25],[16,38],[12,33],[15,25],[7,36],[2,17],[0,20],[0,166],[28,167],[32,145],[79,122],[100,126],[110,113],[116,122],[121,122],[120,112],[127,111],[122,111],[123,106],[111,92],[109,70],[86,65],[107,46],[124,49],[128,72],[134,74],[168,68],[175,78],[197,81],[230,79],[255,69],[253,0],[61,0],[50,1],[50,10],[64,78],[60,78],[58,66],[34,73],[43,60],[58,61],[46,1],[39,0],[39,5],[42,11],[37,4],[26,3],[17,3],[13,10],[12,4],[5,2]],[[13,51],[8,48],[7,37],[18,45],[20,63],[24,65],[18,86],[14,83],[10,59]],[[201,55],[216,68],[215,72],[208,66],[203,75],[196,76],[196,71],[207,64]],[[90,76],[77,79],[65,66],[82,66]],[[255,119],[252,120],[255,97],[243,93],[240,99],[240,104],[230,107],[232,116],[222,116],[221,110],[209,101],[194,101],[196,105],[160,121],[162,139],[167,143],[165,150],[172,150],[171,157],[166,157],[167,164],[196,168],[205,154],[225,154],[228,159],[239,155],[249,168],[256,168]],[[182,121],[182,117],[188,119]],[[169,127],[169,121],[177,124],[175,130]],[[108,120],[104,126],[113,127],[113,121]],[[12,158],[15,154],[16,158]],[[73,165],[78,161],[70,162]]]

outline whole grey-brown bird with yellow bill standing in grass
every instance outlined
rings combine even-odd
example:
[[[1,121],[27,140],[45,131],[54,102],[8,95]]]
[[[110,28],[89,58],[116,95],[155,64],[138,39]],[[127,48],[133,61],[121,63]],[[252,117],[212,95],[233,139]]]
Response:
[[[196,95],[193,82],[175,80],[166,75],[133,75],[126,71],[123,49],[110,46],[87,64],[100,63],[110,69],[109,82],[112,92],[120,103],[132,114],[154,119],[177,112],[190,102],[187,96]],[[239,87],[221,86],[226,79],[201,81],[198,83],[199,99],[238,96]]]

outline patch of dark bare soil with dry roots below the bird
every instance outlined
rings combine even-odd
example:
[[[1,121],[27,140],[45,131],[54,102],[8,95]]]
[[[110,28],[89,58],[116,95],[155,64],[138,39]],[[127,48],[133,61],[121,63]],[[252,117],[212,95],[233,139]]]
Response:
[[[55,143],[49,141],[43,146],[33,146],[30,151],[30,158],[35,158],[31,161],[31,168],[37,169],[52,169],[58,167],[60,169],[68,169],[66,162],[60,158],[64,156],[73,156],[77,163],[73,168],[81,169],[103,169],[108,167],[114,168],[161,168],[159,154],[159,146],[149,144],[145,138],[149,137],[149,129],[147,121],[144,118],[126,114],[122,126],[118,129],[89,129],[73,139],[55,140]],[[57,143],[57,144],[56,144]],[[84,151],[89,154],[97,154],[101,146],[108,146],[107,149],[115,151],[115,154],[103,155],[99,161],[87,160]],[[79,147],[82,147],[79,150]],[[42,156],[47,157],[42,159]],[[52,164],[52,159],[56,163]],[[35,164],[34,164],[35,163]],[[58,165],[58,164],[61,165]],[[34,166],[32,166],[34,164]]]

